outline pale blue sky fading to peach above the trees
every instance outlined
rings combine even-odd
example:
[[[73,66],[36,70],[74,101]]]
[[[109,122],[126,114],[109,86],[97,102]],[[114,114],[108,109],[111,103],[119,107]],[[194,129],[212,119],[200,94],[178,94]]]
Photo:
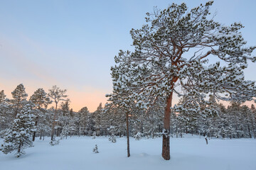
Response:
[[[119,50],[132,50],[129,30],[141,28],[145,13],[175,2],[188,8],[206,1],[0,0],[0,90],[11,98],[18,84],[28,96],[53,85],[67,89],[70,108],[90,112],[112,92],[110,67]],[[211,12],[225,25],[242,23],[247,46],[256,45],[256,1],[216,0]],[[256,52],[253,53],[256,55]],[[256,80],[249,63],[245,79]]]

